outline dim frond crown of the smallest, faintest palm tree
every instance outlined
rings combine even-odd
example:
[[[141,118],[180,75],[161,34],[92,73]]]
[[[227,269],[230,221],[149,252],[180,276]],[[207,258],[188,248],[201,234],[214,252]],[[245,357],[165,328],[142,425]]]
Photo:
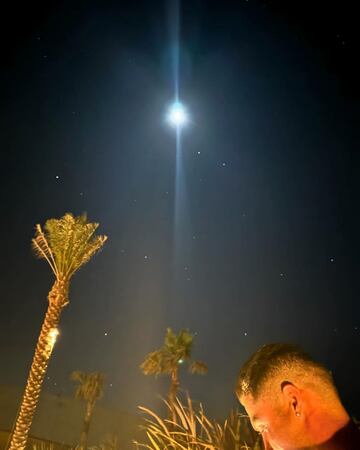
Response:
[[[96,402],[102,397],[105,374],[100,372],[85,373],[76,370],[70,378],[78,382],[75,390],[76,398],[87,402]]]

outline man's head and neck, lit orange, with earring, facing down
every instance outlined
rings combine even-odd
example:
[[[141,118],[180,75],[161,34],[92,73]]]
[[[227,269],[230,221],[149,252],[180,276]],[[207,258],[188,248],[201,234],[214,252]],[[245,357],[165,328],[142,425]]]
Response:
[[[347,417],[330,372],[290,344],[261,347],[241,369],[236,394],[268,449],[324,442]]]

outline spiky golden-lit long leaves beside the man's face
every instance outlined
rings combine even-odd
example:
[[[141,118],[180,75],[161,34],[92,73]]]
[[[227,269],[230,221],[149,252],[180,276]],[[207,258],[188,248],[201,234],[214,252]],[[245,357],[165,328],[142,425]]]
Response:
[[[165,403],[170,408],[169,403]],[[142,447],[148,450],[167,448],[173,450],[260,450],[259,443],[256,443],[253,436],[250,436],[247,416],[236,411],[232,411],[227,420],[219,423],[206,416],[201,404],[194,408],[190,397],[187,397],[185,405],[178,398],[176,399],[174,420],[163,420],[154,411],[143,406],[140,406],[139,409],[148,416],[143,427],[148,443],[135,441],[138,448]]]

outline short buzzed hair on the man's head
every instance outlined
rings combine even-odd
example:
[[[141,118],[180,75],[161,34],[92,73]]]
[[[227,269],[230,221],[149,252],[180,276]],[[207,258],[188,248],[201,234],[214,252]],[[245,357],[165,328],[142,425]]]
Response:
[[[310,371],[336,390],[331,372],[322,364],[296,345],[278,343],[263,345],[244,364],[239,373],[236,394],[239,398],[250,394],[256,399],[271,377],[282,371],[294,370],[304,375]]]

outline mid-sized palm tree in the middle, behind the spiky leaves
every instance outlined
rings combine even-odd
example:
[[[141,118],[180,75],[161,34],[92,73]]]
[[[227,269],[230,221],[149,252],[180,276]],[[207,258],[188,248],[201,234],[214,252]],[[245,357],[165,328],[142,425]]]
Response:
[[[171,411],[174,409],[180,386],[180,365],[187,364],[191,374],[204,375],[208,370],[205,363],[191,359],[193,341],[194,335],[188,330],[180,330],[179,334],[176,335],[171,328],[167,328],[163,346],[149,353],[140,365],[140,369],[145,375],[170,376],[168,400]],[[174,417],[174,414],[172,416]]]

